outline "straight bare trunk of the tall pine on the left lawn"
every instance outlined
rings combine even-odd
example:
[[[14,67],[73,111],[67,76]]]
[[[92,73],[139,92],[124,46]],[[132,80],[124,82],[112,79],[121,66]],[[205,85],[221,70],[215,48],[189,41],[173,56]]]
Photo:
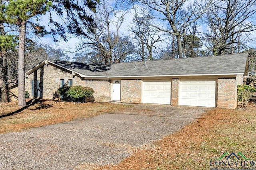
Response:
[[[20,37],[19,37],[19,50],[18,50],[18,106],[26,106],[25,99],[25,34],[26,34],[26,21],[23,21],[20,25]]]

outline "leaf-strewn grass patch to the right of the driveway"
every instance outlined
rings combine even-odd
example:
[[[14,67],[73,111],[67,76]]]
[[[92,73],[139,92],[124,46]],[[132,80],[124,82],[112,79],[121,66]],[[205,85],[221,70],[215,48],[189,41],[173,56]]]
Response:
[[[244,169],[252,166],[210,166],[210,160],[225,152],[256,160],[254,110],[214,108],[198,121],[156,141],[151,148],[136,149],[120,164],[98,166],[100,170],[210,170]],[[227,156],[223,159],[225,160]],[[240,157],[241,158],[241,157]],[[232,157],[232,160],[236,160]],[[241,160],[244,160],[241,158]],[[255,168],[253,166],[253,168]],[[86,169],[86,168],[85,168]]]

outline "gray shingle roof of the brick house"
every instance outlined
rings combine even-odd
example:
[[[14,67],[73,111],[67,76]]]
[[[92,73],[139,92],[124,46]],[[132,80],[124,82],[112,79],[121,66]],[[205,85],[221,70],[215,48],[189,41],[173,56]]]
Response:
[[[49,60],[63,68],[85,76],[171,76],[202,74],[244,74],[248,53],[185,59],[144,61],[116,64],[84,64]],[[136,68],[135,68],[136,65]]]

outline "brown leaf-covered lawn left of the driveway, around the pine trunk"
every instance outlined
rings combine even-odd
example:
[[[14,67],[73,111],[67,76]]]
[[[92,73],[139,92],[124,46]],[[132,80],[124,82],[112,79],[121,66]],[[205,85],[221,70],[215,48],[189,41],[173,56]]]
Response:
[[[18,132],[77,118],[89,118],[129,107],[101,102],[73,103],[52,100],[29,100],[27,103],[26,107],[19,107],[16,101],[0,103],[0,133]]]

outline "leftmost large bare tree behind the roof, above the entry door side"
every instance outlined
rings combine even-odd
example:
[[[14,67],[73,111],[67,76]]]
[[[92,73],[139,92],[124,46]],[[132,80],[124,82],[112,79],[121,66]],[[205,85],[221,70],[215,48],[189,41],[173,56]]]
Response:
[[[120,39],[120,27],[124,22],[126,14],[126,1],[102,0],[97,4],[97,13],[92,13],[94,24],[88,25],[84,18],[77,13],[70,13],[68,16],[69,32],[82,39],[78,45],[78,51],[86,51],[86,55],[98,57],[98,63],[114,63],[114,48],[118,44],[126,45]],[[81,57],[81,56],[80,56]],[[75,59],[75,58],[74,58]]]

